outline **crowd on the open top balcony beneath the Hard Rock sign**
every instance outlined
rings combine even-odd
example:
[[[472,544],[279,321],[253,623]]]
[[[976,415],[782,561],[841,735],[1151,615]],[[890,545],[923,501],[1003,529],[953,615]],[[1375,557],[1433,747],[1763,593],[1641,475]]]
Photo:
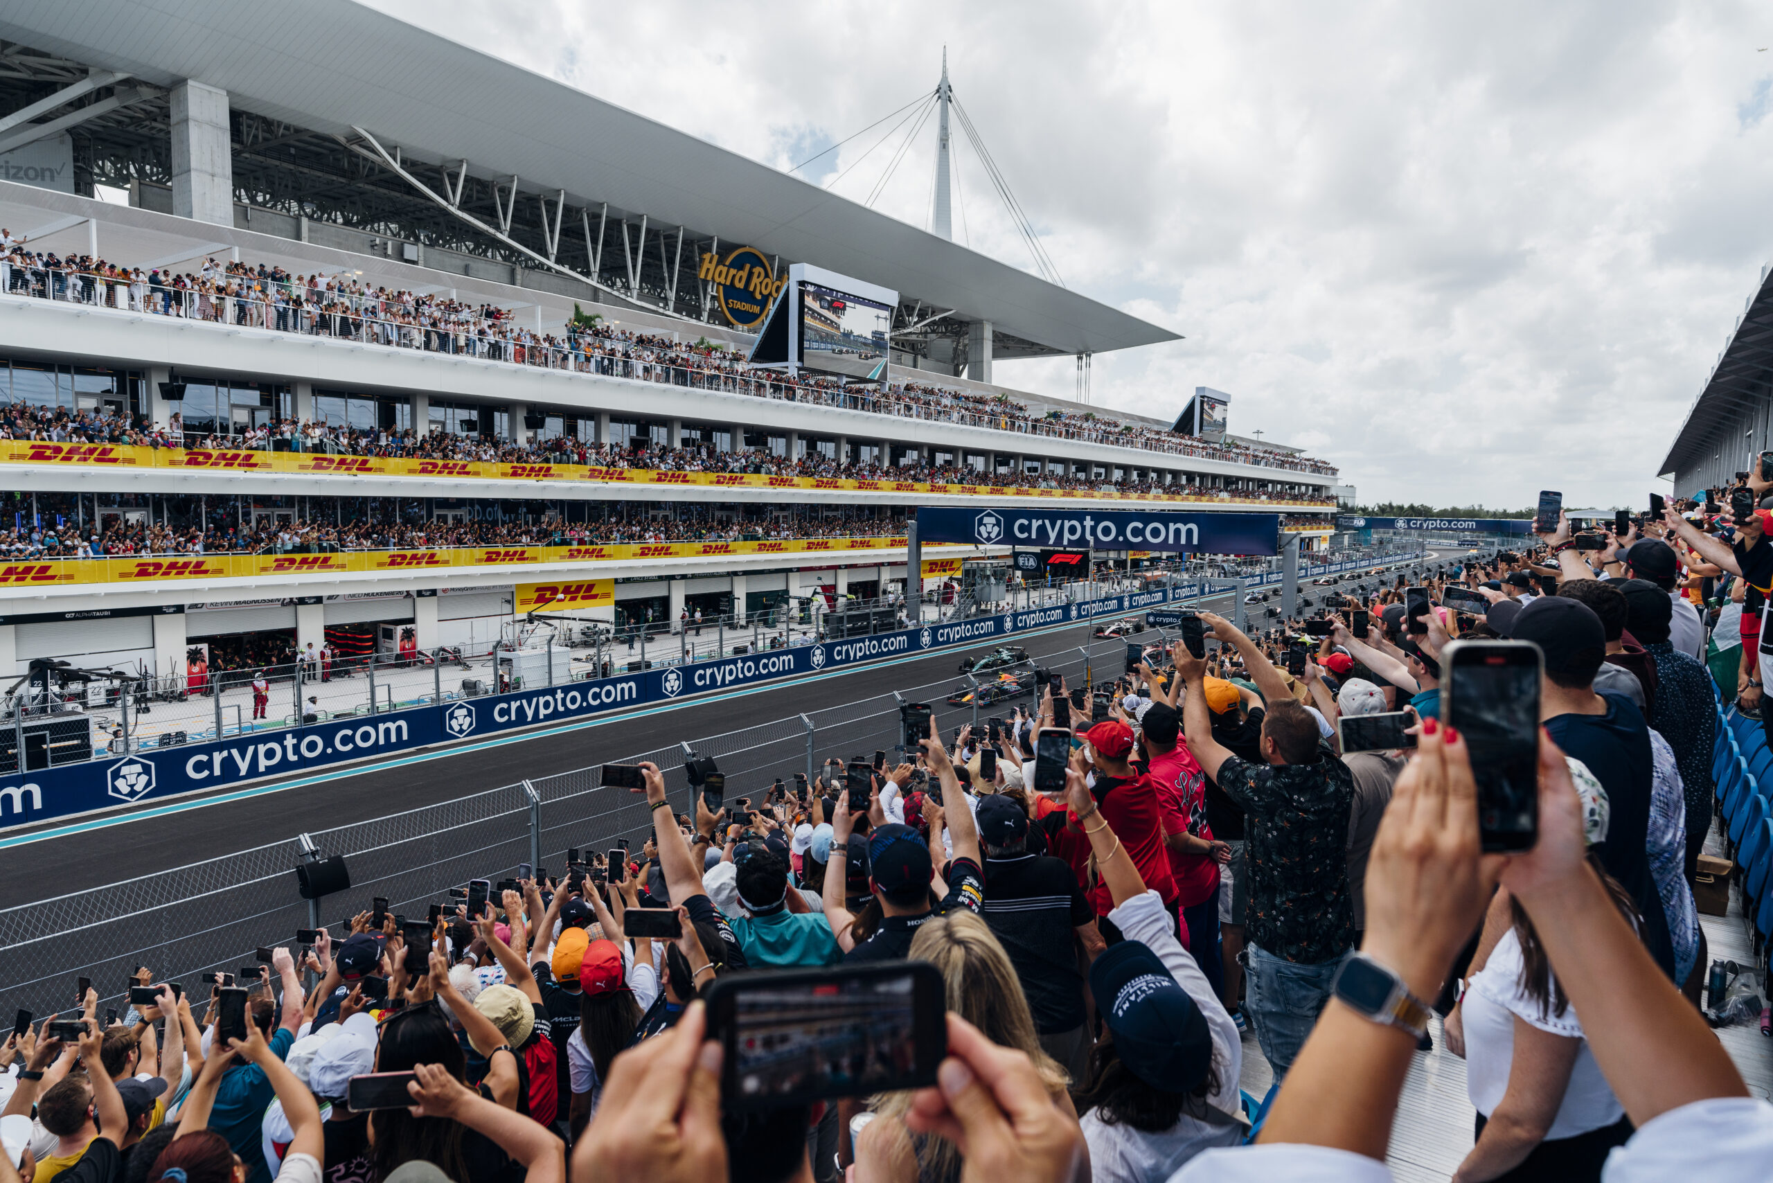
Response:
[[[1234,440],[1209,443],[1094,411],[1039,415],[1005,394],[911,381],[846,385],[810,374],[784,380],[752,371],[718,346],[691,346],[601,319],[539,333],[516,325],[509,309],[468,305],[436,293],[388,291],[349,273],[291,275],[262,262],[215,259],[206,259],[195,273],[144,271],[87,255],[32,252],[7,238],[0,238],[0,250],[5,252],[0,289],[12,294],[1335,475],[1330,465],[1294,452]]]

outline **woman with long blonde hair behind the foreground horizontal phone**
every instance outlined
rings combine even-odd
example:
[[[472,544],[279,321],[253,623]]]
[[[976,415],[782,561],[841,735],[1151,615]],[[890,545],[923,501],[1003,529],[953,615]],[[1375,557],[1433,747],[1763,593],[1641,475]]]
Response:
[[[1016,968],[982,919],[959,908],[931,917],[911,938],[910,960],[929,961],[941,972],[950,1011],[995,1045],[1027,1052],[1053,1105],[1076,1117],[1066,1069],[1041,1050]],[[961,1178],[961,1151],[952,1142],[904,1128],[911,1096],[874,1098],[878,1121],[871,1121],[856,1140],[856,1183],[956,1183]]]

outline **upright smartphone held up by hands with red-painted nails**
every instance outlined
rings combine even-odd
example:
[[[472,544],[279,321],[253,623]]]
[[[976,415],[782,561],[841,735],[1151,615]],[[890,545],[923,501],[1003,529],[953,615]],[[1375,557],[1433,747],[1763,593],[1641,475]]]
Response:
[[[1456,640],[1441,653],[1441,720],[1464,734],[1484,850],[1539,841],[1539,646]]]

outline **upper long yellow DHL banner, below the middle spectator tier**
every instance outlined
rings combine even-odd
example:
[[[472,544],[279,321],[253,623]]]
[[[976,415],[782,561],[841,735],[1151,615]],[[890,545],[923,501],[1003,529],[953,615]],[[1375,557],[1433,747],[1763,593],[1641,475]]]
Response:
[[[298,472],[344,477],[456,477],[475,481],[576,481],[592,484],[681,484],[736,490],[832,490],[842,493],[938,493],[961,497],[1041,497],[1128,502],[1230,504],[1181,493],[1101,493],[1096,490],[1005,490],[989,484],[926,481],[855,481],[849,477],[773,477],[757,472],[661,472],[587,465],[507,465],[468,459],[404,459],[388,456],[321,456],[316,452],[200,450],[126,447],[121,443],[50,443],[0,440],[0,463],[92,465],[117,468],[209,468],[218,472]],[[1262,502],[1287,507],[1291,502]],[[1300,509],[1310,505],[1300,504]]]

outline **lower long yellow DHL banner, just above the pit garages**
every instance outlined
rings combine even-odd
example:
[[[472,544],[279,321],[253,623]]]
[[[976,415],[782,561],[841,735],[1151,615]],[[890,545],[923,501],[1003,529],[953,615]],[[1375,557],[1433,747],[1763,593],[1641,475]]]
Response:
[[[35,559],[23,562],[0,562],[0,587],[41,587],[57,584],[158,584],[165,580],[344,575],[351,571],[505,568],[543,562],[699,559],[704,555],[810,555],[823,552],[888,550],[904,544],[904,537],[805,537],[761,543],[612,543],[608,546],[353,550],[335,555],[142,555],[131,559]],[[945,543],[933,544],[941,546]],[[929,562],[931,560],[926,560],[924,566],[927,568]],[[956,559],[952,562],[954,569],[959,569],[959,560]],[[558,587],[566,587],[566,584],[560,584]]]

